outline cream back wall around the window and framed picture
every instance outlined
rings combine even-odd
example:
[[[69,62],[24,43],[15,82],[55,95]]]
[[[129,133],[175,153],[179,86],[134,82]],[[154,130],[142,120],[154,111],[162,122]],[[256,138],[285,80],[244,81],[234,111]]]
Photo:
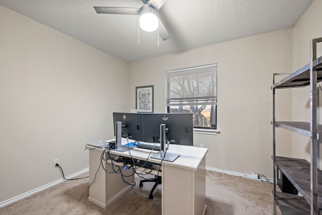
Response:
[[[292,68],[292,37],[292,30],[287,29],[132,62],[130,108],[135,108],[136,86],[154,85],[154,112],[164,113],[165,71],[217,63],[220,133],[194,134],[195,146],[209,149],[208,167],[244,174],[257,171],[272,178],[270,87],[273,73]],[[289,94],[284,105],[290,104]],[[291,119],[290,111],[279,115]],[[290,147],[289,142],[282,151],[288,153]]]

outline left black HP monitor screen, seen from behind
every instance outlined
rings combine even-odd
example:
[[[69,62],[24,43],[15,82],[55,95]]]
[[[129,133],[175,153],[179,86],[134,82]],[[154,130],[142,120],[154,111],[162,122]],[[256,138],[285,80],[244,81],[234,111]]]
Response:
[[[143,141],[141,113],[113,113],[114,134],[115,122],[122,122],[122,137]]]

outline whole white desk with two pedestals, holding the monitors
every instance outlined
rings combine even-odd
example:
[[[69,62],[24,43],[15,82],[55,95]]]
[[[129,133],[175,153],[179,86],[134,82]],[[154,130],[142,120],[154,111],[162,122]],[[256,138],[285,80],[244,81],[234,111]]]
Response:
[[[111,140],[108,140],[111,141]],[[133,142],[133,140],[129,140]],[[122,138],[122,145],[127,140]],[[91,147],[89,147],[91,148]],[[162,162],[162,214],[202,215],[205,213],[205,165],[208,149],[170,145],[168,152],[180,154],[174,162]],[[101,163],[103,149],[90,150],[90,183]],[[153,151],[154,152],[154,151]],[[131,149],[131,156],[138,160],[146,160],[150,150]],[[130,157],[129,152],[110,151],[110,155]],[[151,153],[153,155],[154,153]],[[161,160],[148,159],[149,162],[160,163]],[[103,162],[105,169],[112,172],[112,165]],[[131,175],[133,171],[122,170],[123,175]],[[134,182],[132,177],[124,177],[128,183]],[[138,186],[138,185],[137,185]],[[126,193],[132,186],[124,183],[122,176],[116,173],[107,173],[101,167],[96,175],[95,182],[90,187],[89,201],[106,208],[118,197]]]

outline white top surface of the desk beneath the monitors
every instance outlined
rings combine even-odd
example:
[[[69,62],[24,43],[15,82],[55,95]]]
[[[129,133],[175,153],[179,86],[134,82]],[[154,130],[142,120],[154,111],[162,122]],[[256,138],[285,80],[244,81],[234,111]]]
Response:
[[[112,141],[112,140],[114,140],[114,139],[110,139],[107,141]],[[134,142],[134,141],[135,140],[129,139],[129,142]],[[147,142],[142,142],[142,143],[150,144]],[[126,144],[127,144],[127,139],[122,138],[122,145],[126,145]],[[156,144],[156,145],[159,146],[160,144]],[[103,151],[103,149],[98,149],[98,150]],[[183,145],[170,144],[167,152],[180,154],[180,156],[174,162],[162,161],[163,165],[176,166],[176,167],[180,166],[181,168],[184,168],[184,169],[190,169],[190,170],[196,171],[200,165],[200,162],[206,156],[208,149],[193,147],[193,146],[183,146]],[[146,150],[146,149],[141,149],[141,148],[133,148],[130,151],[126,151],[126,152],[118,152],[118,151],[111,150],[110,153],[114,154],[114,155],[124,156],[124,157],[131,156],[131,157],[133,157],[135,159],[139,159],[139,160],[146,160],[147,157],[154,155],[155,153],[157,153],[157,151],[152,151],[152,153],[151,153],[151,150]],[[152,159],[152,158],[148,158],[147,161],[153,162],[153,163],[160,163],[161,162],[161,160]]]

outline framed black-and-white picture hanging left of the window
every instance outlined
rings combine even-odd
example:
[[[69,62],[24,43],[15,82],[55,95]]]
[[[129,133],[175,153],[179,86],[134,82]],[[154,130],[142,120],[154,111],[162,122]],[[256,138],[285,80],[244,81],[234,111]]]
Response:
[[[153,85],[135,88],[135,108],[139,113],[153,113]]]

